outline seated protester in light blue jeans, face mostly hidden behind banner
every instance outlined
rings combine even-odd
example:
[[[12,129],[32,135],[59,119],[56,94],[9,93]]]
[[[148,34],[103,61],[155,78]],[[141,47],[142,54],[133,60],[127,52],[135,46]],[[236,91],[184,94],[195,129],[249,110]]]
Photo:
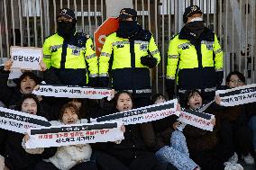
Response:
[[[152,99],[153,103],[166,102],[163,94],[156,94]],[[180,110],[179,104],[178,110]],[[182,132],[177,130],[177,118],[176,115],[173,115],[153,121],[154,129],[151,130],[151,136],[153,136],[151,141],[154,142],[157,151],[155,155],[161,162],[169,163],[178,169],[199,169],[199,166],[189,158],[186,139]],[[149,141],[149,136],[145,138],[146,141]]]

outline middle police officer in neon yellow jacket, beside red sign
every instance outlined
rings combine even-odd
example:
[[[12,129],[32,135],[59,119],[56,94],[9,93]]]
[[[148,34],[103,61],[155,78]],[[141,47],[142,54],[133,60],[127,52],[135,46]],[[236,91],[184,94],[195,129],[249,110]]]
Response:
[[[119,28],[105,39],[99,58],[99,80],[114,90],[133,93],[137,107],[149,104],[151,96],[150,68],[160,62],[160,52],[150,31],[136,21],[137,12],[123,8],[118,17]],[[109,78],[110,77],[110,78]]]

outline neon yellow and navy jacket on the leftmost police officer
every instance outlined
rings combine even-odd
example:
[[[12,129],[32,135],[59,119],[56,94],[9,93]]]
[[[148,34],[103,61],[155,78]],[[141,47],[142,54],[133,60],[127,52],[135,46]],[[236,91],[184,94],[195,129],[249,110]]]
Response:
[[[98,62],[93,41],[76,32],[69,40],[58,33],[43,44],[43,61],[64,85],[87,85],[87,75],[98,76]]]

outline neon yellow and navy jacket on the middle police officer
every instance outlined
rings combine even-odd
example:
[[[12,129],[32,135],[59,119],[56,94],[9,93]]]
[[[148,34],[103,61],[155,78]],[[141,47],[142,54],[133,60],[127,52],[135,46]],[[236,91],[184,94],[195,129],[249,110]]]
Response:
[[[99,77],[112,77],[115,90],[130,90],[133,94],[151,94],[150,69],[141,58],[151,56],[160,62],[160,52],[150,31],[142,30],[133,40],[110,34],[105,39],[99,58]]]

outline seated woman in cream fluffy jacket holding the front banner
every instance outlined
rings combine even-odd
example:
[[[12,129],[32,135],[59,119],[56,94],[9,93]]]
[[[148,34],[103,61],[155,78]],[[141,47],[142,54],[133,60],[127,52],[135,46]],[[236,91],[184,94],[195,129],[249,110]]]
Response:
[[[63,105],[59,121],[50,121],[52,125],[66,125],[66,124],[79,124],[87,123],[86,119],[80,119],[80,114],[76,105],[67,103]],[[25,135],[24,141],[29,139]],[[26,149],[28,153],[41,154],[47,148],[32,148]],[[53,157],[45,159],[35,166],[34,170],[96,170],[96,163],[90,161],[92,148],[89,144],[62,146],[57,148]]]

